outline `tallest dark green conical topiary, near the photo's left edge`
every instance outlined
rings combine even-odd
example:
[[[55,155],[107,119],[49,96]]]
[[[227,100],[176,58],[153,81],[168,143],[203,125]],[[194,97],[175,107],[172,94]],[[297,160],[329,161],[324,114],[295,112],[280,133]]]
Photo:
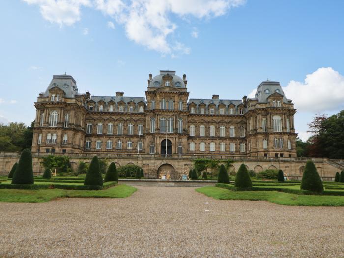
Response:
[[[22,151],[18,166],[13,174],[12,184],[33,184],[32,154],[30,149]]]

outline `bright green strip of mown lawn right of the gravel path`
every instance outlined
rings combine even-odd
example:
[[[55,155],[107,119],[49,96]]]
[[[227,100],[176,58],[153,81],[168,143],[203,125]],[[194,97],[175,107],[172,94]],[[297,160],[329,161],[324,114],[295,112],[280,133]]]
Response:
[[[297,206],[344,206],[343,196],[296,195],[276,191],[231,191],[215,186],[197,188],[196,191],[221,200],[269,201]]]

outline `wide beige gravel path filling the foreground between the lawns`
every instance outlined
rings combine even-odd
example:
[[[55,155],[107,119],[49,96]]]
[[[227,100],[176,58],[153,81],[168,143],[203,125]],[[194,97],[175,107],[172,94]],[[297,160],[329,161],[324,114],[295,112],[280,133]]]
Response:
[[[221,201],[195,188],[0,203],[0,257],[343,257],[343,207]]]

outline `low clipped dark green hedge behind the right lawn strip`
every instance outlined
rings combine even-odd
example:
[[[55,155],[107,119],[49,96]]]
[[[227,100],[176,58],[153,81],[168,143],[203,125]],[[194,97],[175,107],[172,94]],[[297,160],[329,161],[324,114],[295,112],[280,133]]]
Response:
[[[246,187],[246,188],[240,188],[235,187],[234,185],[229,184],[216,184],[216,187],[225,188],[232,191],[277,191],[277,192],[284,192],[289,194],[297,194],[297,195],[336,195],[336,196],[344,196],[344,191],[323,191],[321,194],[316,192],[311,192],[308,190],[298,190],[298,189],[288,189],[288,188],[274,188],[274,187],[266,187],[266,188],[260,188],[260,187]]]

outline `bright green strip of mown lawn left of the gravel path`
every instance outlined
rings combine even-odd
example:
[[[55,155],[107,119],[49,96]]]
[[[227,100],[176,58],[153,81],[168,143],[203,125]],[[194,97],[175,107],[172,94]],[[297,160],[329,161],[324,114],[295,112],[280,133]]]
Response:
[[[0,189],[0,202],[46,202],[62,197],[124,198],[137,189],[128,185],[116,185],[105,190],[19,190]]]

